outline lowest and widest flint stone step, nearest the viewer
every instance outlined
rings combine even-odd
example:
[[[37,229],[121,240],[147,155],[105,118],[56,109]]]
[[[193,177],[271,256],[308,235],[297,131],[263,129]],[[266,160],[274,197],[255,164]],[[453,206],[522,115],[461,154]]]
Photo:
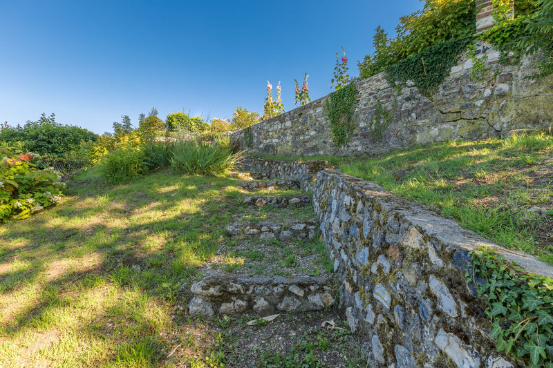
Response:
[[[268,316],[278,311],[317,311],[334,304],[332,278],[287,279],[209,275],[192,284],[190,314],[232,315],[254,311]]]

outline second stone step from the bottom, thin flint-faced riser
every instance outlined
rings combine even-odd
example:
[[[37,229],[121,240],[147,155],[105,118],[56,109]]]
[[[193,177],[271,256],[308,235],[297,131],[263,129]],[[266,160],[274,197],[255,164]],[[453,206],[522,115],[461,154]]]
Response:
[[[313,220],[290,222],[290,224],[239,222],[227,226],[225,231],[229,236],[250,235],[259,236],[265,240],[278,239],[281,242],[286,242],[292,238],[312,240],[315,238],[315,231],[318,227],[317,222]]]

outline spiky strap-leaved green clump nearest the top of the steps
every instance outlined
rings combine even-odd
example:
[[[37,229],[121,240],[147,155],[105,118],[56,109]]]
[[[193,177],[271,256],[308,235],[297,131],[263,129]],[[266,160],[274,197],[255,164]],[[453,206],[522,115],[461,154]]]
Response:
[[[182,173],[223,174],[238,161],[239,154],[232,153],[232,145],[227,136],[221,136],[213,143],[191,139],[174,142],[172,146],[171,166]]]

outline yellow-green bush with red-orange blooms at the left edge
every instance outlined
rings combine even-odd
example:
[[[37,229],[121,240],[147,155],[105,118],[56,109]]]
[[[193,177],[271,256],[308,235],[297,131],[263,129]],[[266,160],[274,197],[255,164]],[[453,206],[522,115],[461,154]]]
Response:
[[[0,221],[23,219],[62,200],[64,183],[50,168],[37,170],[32,155],[0,146]]]

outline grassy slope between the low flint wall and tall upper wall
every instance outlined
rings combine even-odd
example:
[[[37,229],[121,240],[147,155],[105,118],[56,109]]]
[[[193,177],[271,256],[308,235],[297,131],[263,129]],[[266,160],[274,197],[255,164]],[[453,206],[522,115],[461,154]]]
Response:
[[[281,158],[281,157],[279,157]],[[553,136],[444,142],[382,157],[328,159],[467,229],[553,264]]]

